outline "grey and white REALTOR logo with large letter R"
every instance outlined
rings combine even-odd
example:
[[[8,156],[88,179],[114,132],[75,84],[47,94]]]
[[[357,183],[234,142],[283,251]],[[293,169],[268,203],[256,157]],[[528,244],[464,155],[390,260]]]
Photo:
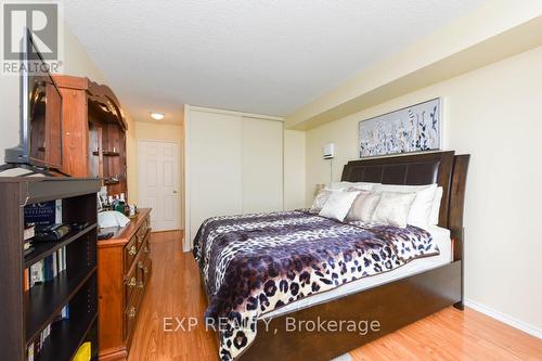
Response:
[[[1,2],[2,20],[2,73],[18,74],[18,62],[24,29],[33,37],[34,46],[51,68],[62,64],[63,22],[61,1]]]

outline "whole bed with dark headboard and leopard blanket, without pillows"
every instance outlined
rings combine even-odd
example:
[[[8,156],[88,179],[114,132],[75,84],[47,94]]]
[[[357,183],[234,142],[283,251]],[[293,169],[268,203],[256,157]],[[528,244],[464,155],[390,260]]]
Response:
[[[428,229],[307,210],[206,220],[194,256],[220,359],[330,360],[448,306],[463,309],[468,159],[437,152],[345,166],[343,181],[442,186]]]

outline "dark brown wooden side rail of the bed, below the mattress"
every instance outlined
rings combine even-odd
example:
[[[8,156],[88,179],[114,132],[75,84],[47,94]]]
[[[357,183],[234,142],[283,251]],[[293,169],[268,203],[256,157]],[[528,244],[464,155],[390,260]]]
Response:
[[[258,321],[255,341],[237,360],[318,361],[338,357],[461,301],[461,262],[281,315],[268,323]],[[341,330],[330,330],[330,325],[340,322]],[[312,331],[312,324],[319,323],[323,328]]]

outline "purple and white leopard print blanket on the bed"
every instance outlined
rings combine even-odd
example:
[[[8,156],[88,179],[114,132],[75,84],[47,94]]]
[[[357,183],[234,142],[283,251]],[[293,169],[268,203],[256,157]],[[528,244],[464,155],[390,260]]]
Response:
[[[194,240],[209,297],[205,317],[220,325],[223,361],[254,340],[259,317],[438,254],[420,228],[341,223],[305,210],[210,218]]]

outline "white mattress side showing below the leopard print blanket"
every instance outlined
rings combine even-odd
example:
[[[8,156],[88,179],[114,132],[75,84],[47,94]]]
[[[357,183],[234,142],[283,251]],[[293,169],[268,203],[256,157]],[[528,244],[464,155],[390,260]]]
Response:
[[[429,227],[427,231],[433,235],[433,238],[437,243],[440,249],[440,255],[426,258],[418,258],[392,271],[366,276],[358,281],[347,283],[332,291],[327,291],[321,294],[302,298],[293,304],[288,304],[284,307],[281,307],[278,310],[266,313],[264,315],[261,317],[261,319],[275,318],[310,306],[323,304],[330,299],[344,297],[363,289],[376,287],[378,285],[389,283],[399,279],[403,279],[416,273],[422,273],[451,262],[452,242],[450,238],[450,231],[437,225]]]

